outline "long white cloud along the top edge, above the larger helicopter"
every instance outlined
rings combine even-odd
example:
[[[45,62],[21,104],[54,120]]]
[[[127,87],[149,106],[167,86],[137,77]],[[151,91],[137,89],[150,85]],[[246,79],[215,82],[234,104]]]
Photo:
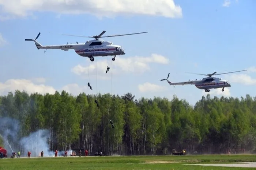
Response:
[[[0,0],[0,8],[0,16],[5,19],[26,17],[38,11],[59,14],[90,13],[97,17],[121,14],[182,17],[182,9],[174,0]]]

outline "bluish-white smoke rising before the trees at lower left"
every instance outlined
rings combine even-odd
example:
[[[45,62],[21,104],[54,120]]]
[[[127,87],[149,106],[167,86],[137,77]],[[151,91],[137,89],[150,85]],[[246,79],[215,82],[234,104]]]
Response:
[[[21,157],[27,157],[30,151],[30,157],[41,157],[41,151],[44,157],[52,157],[54,151],[49,151],[48,139],[49,130],[41,129],[29,134],[27,137],[20,137],[20,123],[18,120],[11,118],[0,118],[0,135],[4,141],[4,148],[7,150],[8,157],[12,151],[20,151]],[[72,154],[72,150],[68,151],[68,155]],[[58,151],[58,156],[64,155],[64,151]]]

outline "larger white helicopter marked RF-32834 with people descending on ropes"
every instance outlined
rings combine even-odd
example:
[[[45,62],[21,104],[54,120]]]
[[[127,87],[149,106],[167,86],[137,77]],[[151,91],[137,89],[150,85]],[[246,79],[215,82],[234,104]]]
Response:
[[[61,45],[50,45],[50,46],[42,46],[38,43],[37,39],[40,32],[38,33],[35,39],[25,39],[25,41],[34,41],[37,49],[44,49],[44,53],[47,49],[60,49],[64,51],[68,51],[69,49],[74,49],[76,54],[82,57],[88,57],[93,62],[94,57],[96,56],[113,56],[112,60],[114,61],[116,55],[125,55],[124,49],[121,46],[113,45],[111,41],[99,40],[102,37],[115,37],[115,36],[125,36],[125,35],[135,35],[147,32],[138,32],[138,33],[129,33],[129,34],[121,34],[121,35],[110,35],[110,36],[102,36],[106,31],[102,31],[99,35],[95,36],[79,36],[79,35],[68,35],[67,36],[78,36],[78,37],[90,37],[94,38],[94,40],[88,40],[86,43],[78,43],[76,44],[61,44]]]

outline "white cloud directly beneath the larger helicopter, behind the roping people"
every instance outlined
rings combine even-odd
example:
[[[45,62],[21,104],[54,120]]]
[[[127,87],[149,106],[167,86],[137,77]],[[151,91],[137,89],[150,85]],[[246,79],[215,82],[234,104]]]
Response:
[[[122,74],[127,72],[142,74],[150,70],[149,63],[169,63],[169,59],[158,54],[152,54],[150,57],[135,56],[126,58],[116,56],[116,60],[114,62],[112,62],[111,57],[109,57],[109,60],[105,59],[97,62],[98,58],[99,57],[95,57],[94,62],[89,61],[89,67],[88,65],[81,66],[80,64],[78,64],[77,66],[72,68],[71,71],[77,75],[81,75],[84,78],[88,78],[88,76],[90,75],[90,78],[95,78],[97,76],[97,79],[109,79],[110,77],[106,75],[107,66],[110,67],[108,74],[111,74],[111,71],[112,74]],[[89,58],[87,60],[89,60]]]

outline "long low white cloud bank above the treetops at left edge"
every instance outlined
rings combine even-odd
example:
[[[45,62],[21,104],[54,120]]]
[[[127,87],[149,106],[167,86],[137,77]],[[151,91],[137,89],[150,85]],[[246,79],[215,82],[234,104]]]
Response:
[[[65,90],[72,95],[78,95],[80,92],[84,92],[87,89],[86,86],[79,87],[78,84],[68,84],[57,91]],[[44,84],[35,84],[31,80],[26,79],[9,79],[4,83],[0,82],[0,95],[6,95],[8,92],[15,92],[15,90],[27,91],[31,94],[38,92],[41,94],[54,94],[56,89],[52,86],[46,86]]]

